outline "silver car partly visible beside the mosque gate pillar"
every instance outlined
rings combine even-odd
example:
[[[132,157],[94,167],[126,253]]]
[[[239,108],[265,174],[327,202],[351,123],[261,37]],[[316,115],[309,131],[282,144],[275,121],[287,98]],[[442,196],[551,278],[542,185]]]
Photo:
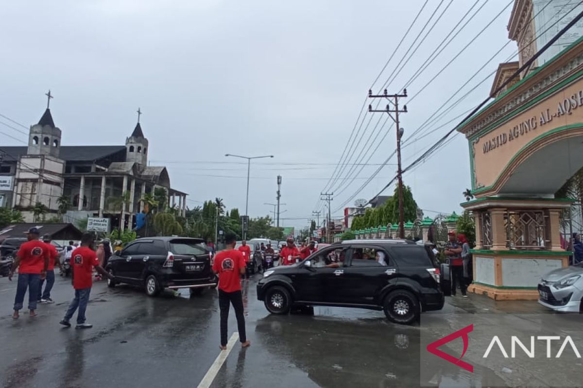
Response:
[[[583,263],[552,270],[540,279],[539,303],[561,312],[580,312],[583,299]]]

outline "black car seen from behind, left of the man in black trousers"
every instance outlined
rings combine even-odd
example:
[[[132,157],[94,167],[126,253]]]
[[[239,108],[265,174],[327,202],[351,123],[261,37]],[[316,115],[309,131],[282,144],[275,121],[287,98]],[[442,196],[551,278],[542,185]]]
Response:
[[[115,279],[108,280],[107,285],[142,286],[149,296],[157,296],[165,288],[189,288],[191,294],[200,294],[205,288],[217,286],[211,266],[210,251],[203,239],[148,237],[115,252],[106,268]]]

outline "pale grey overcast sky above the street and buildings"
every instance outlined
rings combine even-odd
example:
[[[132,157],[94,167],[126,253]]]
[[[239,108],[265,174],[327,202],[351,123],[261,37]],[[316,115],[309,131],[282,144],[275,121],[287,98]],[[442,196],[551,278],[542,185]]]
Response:
[[[479,0],[473,11],[485,1]],[[282,206],[282,211],[287,210],[282,213],[282,223],[305,226],[312,211],[322,207],[318,203],[321,190],[343,190],[332,202],[335,210],[378,168],[365,166],[349,175],[352,166],[347,166],[340,177],[350,179],[326,187],[368,88],[423,2],[3,2],[0,113],[26,126],[36,123],[45,108],[44,93],[51,89],[55,96],[51,111],[62,130],[62,144],[122,145],[134,129],[139,106],[143,112],[142,129],[150,142],[150,163],[168,167],[172,186],[189,193],[189,207],[220,197],[227,208],[238,207],[243,214],[247,166],[233,162],[246,162],[224,154],[273,154],[273,159],[252,162],[249,214],[263,216],[273,210],[264,202],[275,203],[279,173],[283,176],[282,202],[287,204]],[[443,1],[436,15],[449,2]],[[398,92],[407,84],[473,3],[452,1],[395,77],[389,92]],[[445,67],[508,3],[487,1],[409,85],[409,98],[402,100],[409,112],[401,115],[405,129],[404,165],[456,123],[416,142],[408,137],[508,42],[506,26],[512,5]],[[429,1],[375,84],[375,92],[394,71],[438,4],[438,0]],[[507,45],[462,94],[496,70],[498,63],[515,50],[515,42]],[[432,128],[479,104],[489,93],[492,79],[455,108],[445,111]],[[381,119],[379,115],[382,113],[366,116],[359,147],[356,143],[360,136],[349,148],[350,152],[356,149],[352,163],[365,162],[370,155],[370,163],[382,163],[394,150],[393,128],[373,154],[388,128],[378,132],[380,136],[370,145],[377,134],[373,128]],[[364,131],[370,116],[373,121]],[[12,124],[2,118],[0,122]],[[1,124],[0,131],[27,141],[23,134]],[[369,145],[363,147],[371,133]],[[5,134],[0,134],[0,142],[22,145]],[[370,200],[377,194],[395,175],[394,163],[396,158],[348,205],[352,206],[356,198]],[[356,179],[345,186],[343,182],[350,182],[353,176]],[[459,212],[462,191],[470,187],[467,141],[459,134],[404,179],[426,215],[434,216],[434,211]],[[388,191],[392,193],[392,188]],[[333,215],[342,215],[342,210]]]

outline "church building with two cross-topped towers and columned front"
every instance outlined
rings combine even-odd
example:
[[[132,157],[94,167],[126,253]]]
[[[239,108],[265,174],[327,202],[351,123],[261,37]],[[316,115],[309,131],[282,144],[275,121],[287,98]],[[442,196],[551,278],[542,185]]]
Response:
[[[50,92],[47,96],[50,103]],[[166,167],[147,164],[149,144],[140,115],[138,109],[138,123],[125,145],[62,145],[61,129],[47,104],[38,123],[30,126],[27,147],[0,147],[0,205],[18,209],[26,222],[34,222],[34,207],[43,204],[48,209],[44,217],[51,218],[66,197],[65,222],[109,218],[111,229],[124,230],[135,227],[144,195],[163,188],[168,206],[178,207],[184,216],[187,194],[170,186]]]

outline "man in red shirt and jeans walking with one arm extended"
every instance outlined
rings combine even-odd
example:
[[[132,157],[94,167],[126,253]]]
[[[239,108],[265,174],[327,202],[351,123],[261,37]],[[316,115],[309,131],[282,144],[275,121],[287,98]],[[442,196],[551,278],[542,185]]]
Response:
[[[75,298],[73,298],[73,301],[69,305],[69,309],[65,313],[65,318],[59,322],[68,328],[71,327],[69,321],[73,317],[73,314],[75,314],[77,308],[79,308],[79,312],[77,313],[77,326],[75,326],[75,329],[89,329],[93,327],[93,325],[85,323],[85,309],[87,308],[87,302],[89,302],[89,294],[91,293],[91,286],[93,284],[93,267],[101,275],[113,279],[113,276],[99,265],[99,259],[92,246],[93,234],[84,233],[81,237],[81,246],[74,250],[71,255],[71,266],[73,269],[71,271],[73,276],[71,281],[75,289]]]

